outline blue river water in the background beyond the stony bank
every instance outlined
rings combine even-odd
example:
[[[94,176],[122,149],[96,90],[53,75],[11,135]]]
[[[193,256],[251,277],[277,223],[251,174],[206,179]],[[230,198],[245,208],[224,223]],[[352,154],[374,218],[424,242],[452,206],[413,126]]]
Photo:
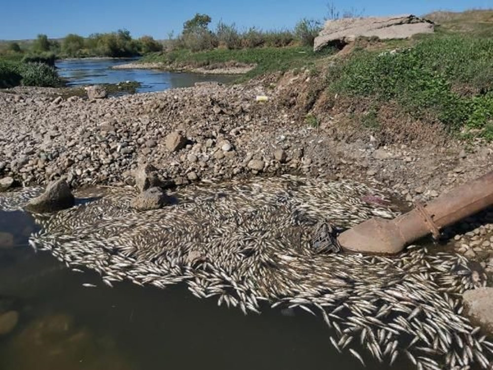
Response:
[[[73,59],[56,63],[58,74],[69,80],[69,86],[81,86],[100,83],[118,83],[138,81],[138,92],[163,91],[174,87],[193,86],[195,82],[234,81],[234,75],[208,75],[193,73],[174,73],[159,70],[115,70],[111,67],[135,62],[137,59]]]

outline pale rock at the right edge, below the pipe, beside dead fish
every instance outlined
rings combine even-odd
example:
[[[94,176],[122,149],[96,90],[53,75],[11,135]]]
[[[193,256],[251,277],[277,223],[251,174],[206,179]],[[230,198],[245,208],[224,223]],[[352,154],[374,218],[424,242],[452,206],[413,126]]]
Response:
[[[493,333],[493,288],[477,288],[463,296],[464,312],[484,329]]]

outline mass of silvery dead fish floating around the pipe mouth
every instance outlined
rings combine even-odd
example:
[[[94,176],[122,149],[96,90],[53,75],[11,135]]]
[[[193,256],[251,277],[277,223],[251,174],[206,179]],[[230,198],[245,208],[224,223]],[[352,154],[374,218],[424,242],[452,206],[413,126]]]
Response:
[[[396,215],[375,189],[292,176],[196,185],[171,194],[175,205],[144,213],[129,207],[133,189],[98,195],[37,217],[42,231],[30,243],[98,271],[109,286],[186,282],[195,296],[245,313],[265,302],[307,311],[332,328],[337,351],[362,363],[360,348],[418,369],[491,367],[493,344],[461,316],[461,294],[485,284],[464,257],[424,247],[396,258],[314,253],[311,231],[321,219],[348,227]]]

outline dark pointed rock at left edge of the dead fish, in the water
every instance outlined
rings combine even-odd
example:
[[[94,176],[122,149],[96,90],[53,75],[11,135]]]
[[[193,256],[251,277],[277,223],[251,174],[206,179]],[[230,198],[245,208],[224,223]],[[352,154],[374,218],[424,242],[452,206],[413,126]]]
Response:
[[[73,206],[75,199],[65,179],[57,180],[40,196],[31,199],[26,209],[35,213],[59,211]]]

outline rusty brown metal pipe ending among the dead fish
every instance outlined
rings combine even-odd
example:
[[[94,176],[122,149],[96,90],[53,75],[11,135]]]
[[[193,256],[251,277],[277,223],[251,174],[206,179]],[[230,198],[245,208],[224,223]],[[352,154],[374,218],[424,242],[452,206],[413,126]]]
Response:
[[[493,172],[445,193],[393,220],[373,218],[339,235],[344,250],[395,254],[413,241],[493,205]]]

